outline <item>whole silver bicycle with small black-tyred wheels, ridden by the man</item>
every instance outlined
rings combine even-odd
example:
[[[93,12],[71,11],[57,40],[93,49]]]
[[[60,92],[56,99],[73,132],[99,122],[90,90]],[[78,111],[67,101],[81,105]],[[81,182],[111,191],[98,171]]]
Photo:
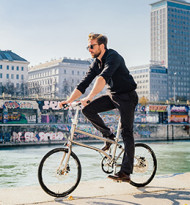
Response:
[[[96,136],[82,130],[77,130],[78,114],[81,103],[72,103],[71,108],[75,109],[75,115],[72,119],[70,136],[65,147],[54,148],[49,151],[41,160],[38,168],[38,180],[42,189],[53,197],[64,197],[73,192],[81,179],[82,168],[77,155],[72,151],[72,145],[76,144],[99,152],[102,156],[101,168],[107,173],[114,174],[117,168],[121,166],[122,154],[124,148],[119,143],[120,120],[117,126],[115,141]],[[113,149],[109,153],[81,142],[74,141],[74,134],[80,133],[90,137],[111,142]],[[143,187],[149,184],[154,178],[157,170],[157,160],[153,150],[144,143],[135,143],[134,169],[131,175],[131,185]]]

